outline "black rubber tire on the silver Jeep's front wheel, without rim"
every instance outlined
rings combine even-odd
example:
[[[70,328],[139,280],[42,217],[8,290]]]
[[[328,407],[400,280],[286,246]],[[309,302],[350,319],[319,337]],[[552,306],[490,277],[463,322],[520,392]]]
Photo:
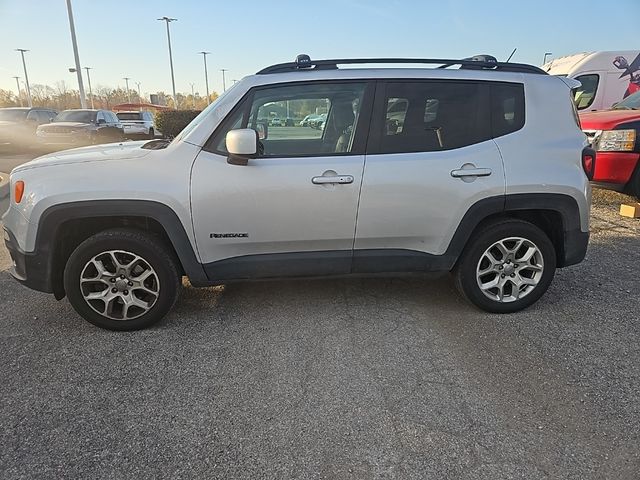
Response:
[[[122,250],[141,257],[156,275],[157,295],[152,296],[153,300],[148,301],[151,307],[135,318],[120,320],[109,318],[92,308],[84,298],[80,280],[85,266],[95,256],[111,250]],[[180,285],[181,276],[172,252],[156,237],[137,230],[106,230],[89,237],[73,251],[64,270],[64,288],[73,308],[88,322],[107,330],[139,330],[160,321],[173,307]],[[131,292],[124,290],[121,293],[130,293],[133,296],[134,288]],[[106,290],[110,290],[110,287]],[[113,291],[115,292],[115,288]],[[119,299],[117,302],[123,303]],[[106,312],[107,303],[102,303]],[[102,304],[99,305],[102,306]],[[144,311],[144,309],[140,310]]]

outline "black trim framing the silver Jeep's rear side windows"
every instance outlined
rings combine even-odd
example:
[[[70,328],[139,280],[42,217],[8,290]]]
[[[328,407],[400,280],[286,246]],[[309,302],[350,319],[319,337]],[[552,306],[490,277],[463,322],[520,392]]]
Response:
[[[465,147],[457,147],[457,148],[453,148],[453,149],[446,149],[446,150],[429,150],[429,151],[424,151],[424,152],[396,152],[396,153],[388,153],[388,152],[382,152],[381,151],[381,143],[382,143],[382,131],[383,131],[383,122],[384,122],[384,118],[386,116],[386,87],[387,84],[389,83],[473,83],[473,84],[477,84],[480,85],[481,87],[483,87],[485,89],[484,92],[481,92],[481,101],[484,102],[485,104],[488,103],[488,110],[489,112],[491,111],[491,85],[517,85],[520,86],[522,88],[522,95],[524,98],[524,112],[523,112],[523,122],[522,125],[520,126],[520,128],[518,128],[517,130],[514,130],[512,132],[509,132],[505,135],[510,135],[512,133],[515,133],[519,130],[522,130],[524,128],[524,126],[526,125],[527,122],[527,105],[526,105],[526,94],[525,94],[525,86],[523,82],[506,82],[506,81],[494,81],[494,80],[474,80],[474,79],[462,79],[462,78],[384,78],[384,79],[377,79],[376,81],[376,93],[375,93],[375,98],[374,98],[374,103],[373,103],[373,111],[371,113],[371,122],[370,122],[370,132],[375,132],[373,135],[369,135],[369,141],[367,142],[367,148],[366,148],[366,155],[402,155],[402,154],[406,154],[406,153],[437,153],[437,152],[445,152],[445,151],[451,151],[451,150],[457,150],[459,148],[465,148],[467,146],[473,146],[473,145],[478,145],[478,143],[472,143],[471,145],[466,145]],[[495,140],[496,138],[500,138],[504,135],[499,135],[499,136],[494,136],[493,135],[493,124],[492,124],[492,119],[491,119],[491,115],[489,115],[489,138],[487,138],[486,140],[483,140],[482,142],[479,143],[483,143],[485,141],[489,141],[489,140]]]

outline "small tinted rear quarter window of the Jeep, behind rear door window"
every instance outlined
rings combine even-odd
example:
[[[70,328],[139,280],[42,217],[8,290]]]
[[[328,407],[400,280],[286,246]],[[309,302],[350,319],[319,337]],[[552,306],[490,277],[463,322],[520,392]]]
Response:
[[[518,83],[491,84],[491,135],[493,138],[524,126],[524,86]]]

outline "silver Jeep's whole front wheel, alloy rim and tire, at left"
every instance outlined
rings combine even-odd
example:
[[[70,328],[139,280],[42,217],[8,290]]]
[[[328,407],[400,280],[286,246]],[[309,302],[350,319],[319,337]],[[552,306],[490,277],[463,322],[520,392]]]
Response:
[[[138,330],[171,309],[180,275],[173,255],[155,237],[107,230],[82,242],[64,270],[64,287],[85,320],[108,330]]]

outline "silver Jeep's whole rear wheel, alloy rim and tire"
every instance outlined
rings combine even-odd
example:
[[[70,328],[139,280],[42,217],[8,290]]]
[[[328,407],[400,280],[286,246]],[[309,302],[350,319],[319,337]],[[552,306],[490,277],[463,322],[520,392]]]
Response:
[[[458,290],[487,312],[517,312],[549,288],[556,252],[535,225],[505,220],[486,226],[469,240],[454,270]]]

